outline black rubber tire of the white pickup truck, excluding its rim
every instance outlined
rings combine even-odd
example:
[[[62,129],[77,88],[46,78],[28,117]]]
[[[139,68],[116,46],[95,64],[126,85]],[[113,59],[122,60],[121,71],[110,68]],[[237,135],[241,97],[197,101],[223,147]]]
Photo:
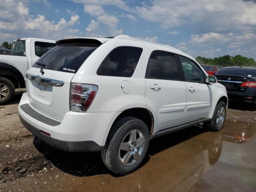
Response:
[[[12,98],[14,97],[14,94],[15,94],[15,87],[14,87],[13,83],[10,80],[8,80],[4,77],[0,77],[0,84],[2,86],[3,85],[6,86],[7,89],[8,89],[7,90],[8,91],[7,96],[5,96],[3,98],[3,95],[1,95],[0,105],[2,105],[2,104],[6,104],[7,102],[10,102],[12,100]],[[0,89],[2,88],[2,86],[0,87]]]

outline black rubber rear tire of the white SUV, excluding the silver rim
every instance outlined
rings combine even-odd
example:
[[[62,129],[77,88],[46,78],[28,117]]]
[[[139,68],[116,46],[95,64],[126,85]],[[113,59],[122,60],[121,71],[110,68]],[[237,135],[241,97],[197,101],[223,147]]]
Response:
[[[143,134],[144,147],[141,152],[140,158],[138,158],[138,160],[134,164],[130,166],[125,166],[124,164],[122,164],[119,157],[119,147],[121,142],[123,142],[123,140],[125,139],[126,135],[129,134],[129,132],[131,132],[132,130],[138,130]],[[106,167],[112,172],[118,175],[125,175],[136,170],[136,168],[140,166],[146,156],[148,146],[149,131],[146,124],[142,120],[134,117],[122,117],[116,121],[108,134],[105,148],[101,152],[102,160]],[[131,160],[133,160],[132,158]]]

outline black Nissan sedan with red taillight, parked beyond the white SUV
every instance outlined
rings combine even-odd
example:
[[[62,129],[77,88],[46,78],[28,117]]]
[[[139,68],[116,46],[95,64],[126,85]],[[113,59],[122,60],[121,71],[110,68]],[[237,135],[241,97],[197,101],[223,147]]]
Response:
[[[227,67],[216,74],[228,91],[230,101],[252,104],[256,108],[256,67]]]

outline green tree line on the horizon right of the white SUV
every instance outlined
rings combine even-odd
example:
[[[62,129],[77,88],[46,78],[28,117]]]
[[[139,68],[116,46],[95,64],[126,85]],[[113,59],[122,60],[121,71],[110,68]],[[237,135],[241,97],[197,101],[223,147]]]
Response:
[[[256,67],[256,62],[253,58],[248,58],[242,55],[230,56],[224,55],[221,57],[205,58],[198,56],[196,57],[196,61],[201,65],[215,65],[221,67],[227,66],[251,66]]]

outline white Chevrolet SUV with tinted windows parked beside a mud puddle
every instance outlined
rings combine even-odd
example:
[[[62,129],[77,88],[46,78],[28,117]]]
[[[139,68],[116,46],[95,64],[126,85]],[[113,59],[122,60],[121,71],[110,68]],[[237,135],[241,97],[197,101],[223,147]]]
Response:
[[[27,72],[22,124],[50,146],[101,151],[127,174],[152,138],[204,123],[222,129],[228,96],[191,56],[121,35],[59,40]]]

